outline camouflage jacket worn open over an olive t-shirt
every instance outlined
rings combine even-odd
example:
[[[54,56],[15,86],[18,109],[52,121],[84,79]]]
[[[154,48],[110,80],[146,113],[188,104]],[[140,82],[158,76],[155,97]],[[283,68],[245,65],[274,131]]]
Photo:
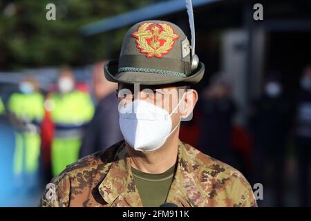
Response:
[[[124,141],[84,157],[53,178],[55,194],[47,189],[41,206],[142,206],[130,165]],[[252,188],[240,172],[182,142],[178,142],[178,164],[167,202],[257,206]]]

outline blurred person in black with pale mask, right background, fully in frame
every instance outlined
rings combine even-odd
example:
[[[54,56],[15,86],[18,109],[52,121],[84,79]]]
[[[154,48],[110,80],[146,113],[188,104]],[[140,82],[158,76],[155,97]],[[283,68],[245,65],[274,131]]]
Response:
[[[255,183],[271,186],[275,205],[284,206],[285,155],[291,108],[280,73],[274,71],[268,76],[263,95],[250,108],[254,135],[253,179]]]

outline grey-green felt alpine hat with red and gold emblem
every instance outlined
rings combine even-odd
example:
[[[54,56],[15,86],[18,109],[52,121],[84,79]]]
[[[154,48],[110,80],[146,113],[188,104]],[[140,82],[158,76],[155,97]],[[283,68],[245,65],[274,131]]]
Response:
[[[124,37],[119,59],[104,66],[109,81],[144,85],[195,84],[204,70],[198,57],[191,56],[185,33],[167,21],[136,23]]]

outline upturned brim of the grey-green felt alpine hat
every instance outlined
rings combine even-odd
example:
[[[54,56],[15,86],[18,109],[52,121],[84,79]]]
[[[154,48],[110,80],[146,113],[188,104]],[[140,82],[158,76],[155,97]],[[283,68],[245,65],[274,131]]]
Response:
[[[178,77],[175,75],[164,75],[156,73],[143,72],[121,72],[117,73],[118,60],[111,60],[104,66],[104,75],[107,80],[123,84],[142,84],[142,85],[160,85],[173,84],[178,82],[187,82],[187,84],[196,84],[204,75],[205,66],[199,62],[198,68],[194,70],[189,77]]]

